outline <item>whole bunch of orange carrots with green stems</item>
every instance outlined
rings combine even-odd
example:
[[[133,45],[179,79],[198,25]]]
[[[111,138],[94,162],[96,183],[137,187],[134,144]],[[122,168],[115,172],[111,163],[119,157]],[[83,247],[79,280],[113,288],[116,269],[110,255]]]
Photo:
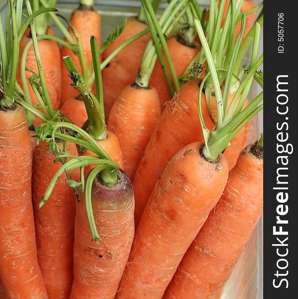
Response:
[[[263,211],[262,3],[160,2],[102,41],[94,0],[7,0],[0,299],[220,298]]]

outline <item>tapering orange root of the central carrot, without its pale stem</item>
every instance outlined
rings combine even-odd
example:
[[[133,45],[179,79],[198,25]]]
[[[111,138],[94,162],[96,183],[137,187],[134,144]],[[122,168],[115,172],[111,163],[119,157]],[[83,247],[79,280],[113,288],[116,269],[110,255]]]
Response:
[[[110,110],[107,129],[118,138],[131,180],[159,117],[159,97],[153,87],[126,86]]]

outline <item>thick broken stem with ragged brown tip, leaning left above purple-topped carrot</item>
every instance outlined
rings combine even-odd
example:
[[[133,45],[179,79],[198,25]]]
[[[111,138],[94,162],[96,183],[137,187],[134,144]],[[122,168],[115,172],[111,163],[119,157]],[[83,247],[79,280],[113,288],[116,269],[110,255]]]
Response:
[[[96,140],[106,139],[106,125],[104,118],[102,119],[99,101],[87,88],[82,75],[78,72],[71,57],[63,57],[63,61],[73,80],[74,88],[80,93],[84,100],[89,120],[89,134]]]

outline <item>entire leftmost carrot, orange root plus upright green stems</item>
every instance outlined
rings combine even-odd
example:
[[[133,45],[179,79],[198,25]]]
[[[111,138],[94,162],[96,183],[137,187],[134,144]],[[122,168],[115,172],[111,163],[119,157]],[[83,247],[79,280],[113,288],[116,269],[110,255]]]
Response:
[[[5,31],[0,19],[0,281],[8,298],[46,299],[31,202],[31,141],[25,112],[15,103],[19,40],[27,27],[21,17],[22,1],[7,1]]]

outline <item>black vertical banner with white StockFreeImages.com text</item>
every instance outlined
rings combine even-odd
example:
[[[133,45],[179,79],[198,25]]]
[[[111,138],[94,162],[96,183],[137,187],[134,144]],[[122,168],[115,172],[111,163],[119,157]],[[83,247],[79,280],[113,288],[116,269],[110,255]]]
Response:
[[[297,296],[298,14],[264,0],[264,298]]]

